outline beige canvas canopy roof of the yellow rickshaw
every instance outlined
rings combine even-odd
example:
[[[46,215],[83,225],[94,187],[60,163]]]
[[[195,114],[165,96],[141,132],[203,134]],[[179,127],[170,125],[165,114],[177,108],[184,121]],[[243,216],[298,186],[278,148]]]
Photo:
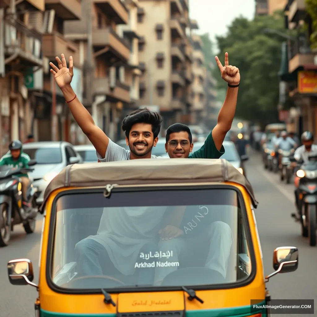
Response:
[[[257,207],[251,184],[225,159],[134,159],[68,165],[47,186],[40,209],[43,209],[49,195],[62,187],[213,182],[242,185],[254,207]]]

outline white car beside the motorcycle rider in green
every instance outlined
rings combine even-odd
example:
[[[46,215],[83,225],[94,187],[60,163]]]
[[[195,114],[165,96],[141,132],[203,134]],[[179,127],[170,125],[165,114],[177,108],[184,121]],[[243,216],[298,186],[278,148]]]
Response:
[[[82,163],[74,146],[64,141],[43,141],[23,144],[23,152],[36,160],[30,173],[33,186],[37,189],[36,203],[43,202],[44,191],[49,182],[67,165]]]

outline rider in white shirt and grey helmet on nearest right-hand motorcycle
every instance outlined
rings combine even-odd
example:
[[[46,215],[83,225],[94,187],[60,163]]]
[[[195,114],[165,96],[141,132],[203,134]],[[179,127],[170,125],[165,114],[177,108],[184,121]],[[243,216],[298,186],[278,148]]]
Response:
[[[295,168],[299,162],[301,163],[308,163],[308,158],[310,156],[317,156],[317,145],[313,144],[314,142],[314,135],[310,131],[305,131],[301,135],[301,143],[302,146],[298,147],[296,151],[294,152],[294,159],[296,159],[296,162],[292,162],[292,166]],[[296,189],[294,191],[295,194],[295,200],[296,200],[296,206],[299,207],[299,199],[298,199],[298,184],[299,184],[299,177],[295,176],[294,183],[296,186]]]

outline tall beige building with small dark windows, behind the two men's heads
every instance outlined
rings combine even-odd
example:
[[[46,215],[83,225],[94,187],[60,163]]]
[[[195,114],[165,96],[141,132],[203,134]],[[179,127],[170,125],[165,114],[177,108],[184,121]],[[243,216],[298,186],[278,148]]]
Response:
[[[164,127],[189,120],[191,42],[188,0],[139,0],[139,106],[157,106]],[[189,97],[189,98],[188,98]]]

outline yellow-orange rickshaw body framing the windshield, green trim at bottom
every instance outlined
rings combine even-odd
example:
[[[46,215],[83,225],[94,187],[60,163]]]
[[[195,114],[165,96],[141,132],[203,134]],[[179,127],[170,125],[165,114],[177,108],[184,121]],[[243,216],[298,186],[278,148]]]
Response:
[[[42,212],[44,213],[44,223],[42,228],[42,239],[41,239],[41,252],[40,252],[40,270],[39,270],[39,296],[36,301],[39,308],[39,316],[41,317],[101,317],[101,316],[138,316],[138,314],[151,315],[155,312],[159,312],[160,315],[177,315],[175,312],[184,312],[186,316],[201,316],[201,317],[213,317],[213,316],[232,316],[232,317],[242,317],[242,316],[267,316],[266,309],[261,308],[256,312],[250,310],[251,299],[257,300],[262,305],[267,302],[266,298],[266,287],[265,287],[265,276],[262,262],[262,250],[260,246],[259,236],[256,227],[256,220],[254,217],[253,206],[257,204],[254,200],[253,192],[250,192],[250,186],[248,181],[243,175],[237,171],[235,174],[235,168],[230,165],[225,160],[182,160],[191,161],[184,162],[184,164],[192,164],[192,161],[218,161],[214,162],[214,166],[222,165],[223,168],[228,169],[227,180],[215,180],[210,182],[202,181],[202,179],[197,179],[197,181],[192,181],[193,184],[205,184],[205,185],[217,185],[217,186],[232,186],[241,193],[240,197],[243,197],[243,201],[246,207],[247,222],[249,223],[252,251],[254,253],[255,263],[252,263],[253,277],[249,283],[244,286],[228,287],[224,286],[220,289],[204,289],[196,290],[196,295],[201,298],[204,303],[198,301],[190,301],[188,295],[182,290],[175,291],[146,291],[128,293],[111,293],[113,301],[117,304],[115,307],[113,305],[104,303],[104,295],[101,294],[70,294],[70,292],[57,292],[53,290],[47,281],[46,268],[49,263],[47,263],[48,249],[52,248],[49,245],[49,234],[50,234],[50,221],[52,213],[55,212],[53,209],[53,202],[57,195],[80,189],[91,189],[91,188],[104,188],[104,186],[77,186],[75,183],[72,184],[68,181],[65,186],[51,186],[47,191],[45,201],[42,205]],[[144,161],[144,160],[134,160],[134,161]],[[151,165],[149,161],[156,160],[145,160],[143,164]],[[148,161],[148,162],[147,162]],[[160,160],[160,163],[163,160]],[[164,160],[165,161],[165,160]],[[174,160],[168,160],[174,161]],[[221,163],[219,163],[222,161]],[[120,165],[120,162],[116,162]],[[128,163],[123,163],[128,164]],[[133,162],[133,164],[137,164]],[[170,163],[166,163],[170,164]],[[195,164],[195,163],[194,163]],[[87,164],[91,165],[91,164]],[[102,169],[103,165],[97,164],[98,168]],[[153,166],[155,167],[155,165]],[[83,169],[83,166],[80,166]],[[87,167],[89,168],[89,167]],[[67,169],[67,168],[66,168]],[[61,172],[63,173],[63,172]],[[230,176],[231,175],[231,176]],[[232,176],[233,175],[233,176]],[[63,175],[64,177],[65,175]],[[242,178],[243,177],[243,178]],[[236,181],[230,181],[230,179],[236,179]],[[54,183],[54,180],[52,181]],[[155,181],[148,186],[153,186]],[[159,186],[180,186],[186,184],[184,183],[173,183],[169,182],[159,182]],[[247,186],[246,186],[247,184]],[[144,186],[144,184],[120,184],[119,187],[131,187],[131,186]],[[256,208],[256,206],[255,206]],[[140,313],[141,312],[141,313]]]

